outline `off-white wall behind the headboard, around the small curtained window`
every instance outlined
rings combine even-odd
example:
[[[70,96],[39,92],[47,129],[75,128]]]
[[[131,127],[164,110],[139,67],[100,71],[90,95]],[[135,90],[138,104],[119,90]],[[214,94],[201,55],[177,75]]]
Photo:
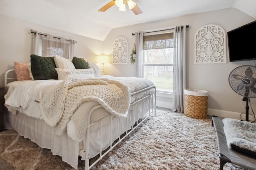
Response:
[[[103,41],[53,29],[43,25],[17,20],[0,15],[0,86],[4,86],[4,73],[14,68],[14,61],[29,63],[31,55],[30,29],[41,30],[55,35],[74,38],[77,43],[75,56],[95,62],[102,54]]]

